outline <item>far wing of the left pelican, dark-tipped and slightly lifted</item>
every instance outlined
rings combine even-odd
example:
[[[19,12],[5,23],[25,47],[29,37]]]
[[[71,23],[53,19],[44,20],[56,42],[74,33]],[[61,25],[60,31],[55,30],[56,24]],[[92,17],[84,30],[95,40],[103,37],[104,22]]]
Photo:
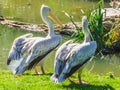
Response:
[[[16,38],[13,42],[12,48],[8,55],[8,62],[11,60],[19,60],[21,56],[26,52],[26,50],[30,47],[28,44],[28,38],[32,37],[31,33],[25,34]],[[8,64],[9,64],[8,63]]]

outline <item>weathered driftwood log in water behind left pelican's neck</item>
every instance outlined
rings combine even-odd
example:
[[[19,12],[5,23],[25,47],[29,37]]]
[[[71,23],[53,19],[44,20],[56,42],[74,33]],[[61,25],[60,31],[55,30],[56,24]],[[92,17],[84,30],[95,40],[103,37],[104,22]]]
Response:
[[[30,24],[30,23],[24,23],[19,21],[12,21],[12,20],[6,20],[1,18],[0,23],[2,25],[6,25],[11,28],[18,28],[22,30],[28,30],[28,31],[35,31],[35,32],[42,32],[47,33],[48,27],[45,24]],[[75,22],[77,26],[81,27],[80,22]],[[55,32],[64,34],[64,35],[72,35],[76,32],[75,27],[72,23],[64,24],[64,28],[61,28],[58,24],[54,24]]]

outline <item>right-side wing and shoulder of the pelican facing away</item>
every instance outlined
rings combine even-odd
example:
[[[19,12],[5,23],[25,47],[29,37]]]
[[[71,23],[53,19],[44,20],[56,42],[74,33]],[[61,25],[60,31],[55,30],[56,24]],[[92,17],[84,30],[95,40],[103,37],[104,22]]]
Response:
[[[88,42],[86,45],[76,45],[69,53],[63,73],[69,73],[73,67],[89,59],[94,55],[96,48],[95,42]]]

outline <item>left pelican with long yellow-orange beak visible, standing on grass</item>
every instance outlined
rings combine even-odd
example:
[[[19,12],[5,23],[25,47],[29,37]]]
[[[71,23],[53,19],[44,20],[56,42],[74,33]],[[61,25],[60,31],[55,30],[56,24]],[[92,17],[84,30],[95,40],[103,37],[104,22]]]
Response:
[[[40,14],[44,23],[48,25],[48,35],[42,38],[33,37],[33,34],[29,33],[14,40],[7,60],[7,65],[13,74],[22,74],[26,70],[35,67],[48,53],[55,49],[62,40],[61,35],[55,34],[54,26],[48,15],[53,17],[62,27],[63,25],[54,17],[51,9],[46,5],[42,5]],[[41,70],[44,74],[43,64],[41,65]],[[37,73],[37,71],[35,72]]]

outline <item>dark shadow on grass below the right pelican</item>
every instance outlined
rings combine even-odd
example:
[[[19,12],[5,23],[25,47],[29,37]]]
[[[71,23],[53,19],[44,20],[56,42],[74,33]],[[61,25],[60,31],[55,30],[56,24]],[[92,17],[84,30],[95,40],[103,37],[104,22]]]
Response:
[[[71,82],[69,85],[63,85],[67,90],[115,90],[112,86],[106,85],[90,85],[90,84],[79,84]]]

